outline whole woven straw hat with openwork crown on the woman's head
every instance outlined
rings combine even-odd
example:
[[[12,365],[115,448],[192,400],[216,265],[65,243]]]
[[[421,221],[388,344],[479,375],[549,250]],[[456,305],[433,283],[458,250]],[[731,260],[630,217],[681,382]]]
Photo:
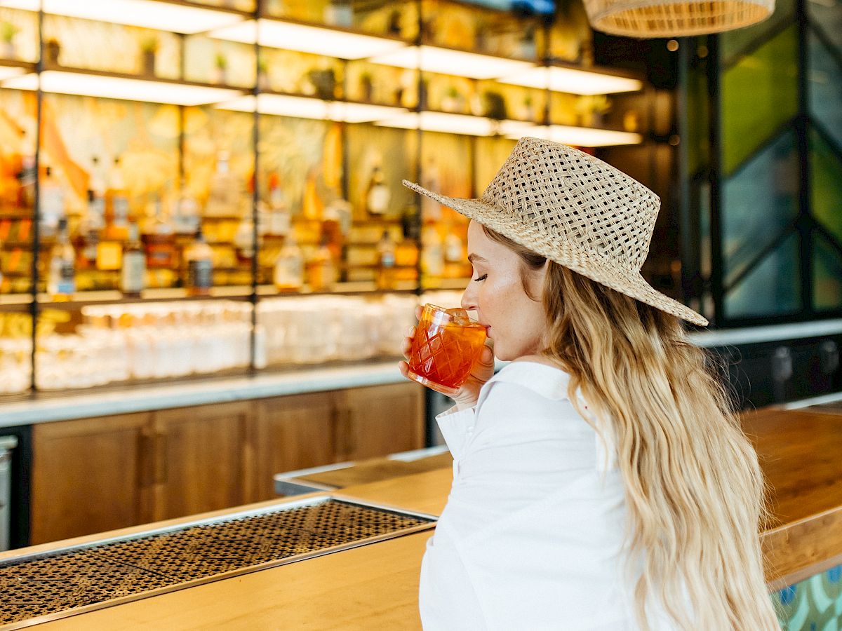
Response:
[[[640,274],[660,199],[625,173],[572,147],[521,138],[480,199],[403,185],[597,283],[705,326]]]

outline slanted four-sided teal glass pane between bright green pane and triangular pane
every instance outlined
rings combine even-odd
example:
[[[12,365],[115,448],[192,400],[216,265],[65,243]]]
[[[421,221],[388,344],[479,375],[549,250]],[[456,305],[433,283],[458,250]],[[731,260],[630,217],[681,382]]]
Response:
[[[798,181],[796,135],[787,131],[722,183],[726,287],[791,225],[798,213]]]

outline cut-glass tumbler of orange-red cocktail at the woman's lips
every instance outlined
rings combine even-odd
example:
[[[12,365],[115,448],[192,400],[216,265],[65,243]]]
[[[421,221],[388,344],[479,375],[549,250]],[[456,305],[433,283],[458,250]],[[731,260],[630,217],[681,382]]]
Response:
[[[485,326],[464,309],[426,305],[415,330],[408,377],[445,395],[465,383],[485,344]]]

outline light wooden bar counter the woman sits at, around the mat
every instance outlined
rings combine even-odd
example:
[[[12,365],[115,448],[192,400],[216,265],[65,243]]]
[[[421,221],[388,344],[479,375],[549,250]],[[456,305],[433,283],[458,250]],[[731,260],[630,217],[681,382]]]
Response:
[[[772,489],[772,522],[762,535],[770,591],[842,564],[842,460],[828,448],[842,441],[842,404],[796,411],[754,411],[743,415],[743,427],[758,449]],[[424,473],[349,486],[330,495],[438,515],[445,506],[451,479],[452,468],[445,465]],[[328,494],[310,496],[324,495]],[[0,559],[150,528],[147,525],[43,544],[0,554]],[[428,532],[408,534],[54,620],[40,628],[419,628],[418,572],[427,538]]]

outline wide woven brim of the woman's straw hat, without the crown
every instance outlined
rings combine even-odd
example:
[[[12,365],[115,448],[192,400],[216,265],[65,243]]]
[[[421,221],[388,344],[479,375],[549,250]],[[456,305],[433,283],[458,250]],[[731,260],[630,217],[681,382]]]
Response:
[[[552,242],[546,236],[546,233],[536,225],[527,225],[521,220],[508,217],[504,211],[493,204],[488,204],[482,199],[448,197],[429,191],[408,180],[403,180],[403,185],[412,188],[417,193],[426,195],[429,199],[434,199],[439,204],[444,204],[456,210],[468,219],[475,220],[501,235],[508,236],[509,239],[529,248],[532,252],[547,257],[559,265],[619,291],[621,294],[626,294],[647,305],[652,305],[656,309],[676,315],[682,320],[700,326],[707,326],[708,324],[704,316],[682,305],[678,300],[673,300],[668,295],[654,289],[639,272],[629,273],[626,269],[616,268],[616,266],[601,259],[595,252],[586,252],[568,241]]]

